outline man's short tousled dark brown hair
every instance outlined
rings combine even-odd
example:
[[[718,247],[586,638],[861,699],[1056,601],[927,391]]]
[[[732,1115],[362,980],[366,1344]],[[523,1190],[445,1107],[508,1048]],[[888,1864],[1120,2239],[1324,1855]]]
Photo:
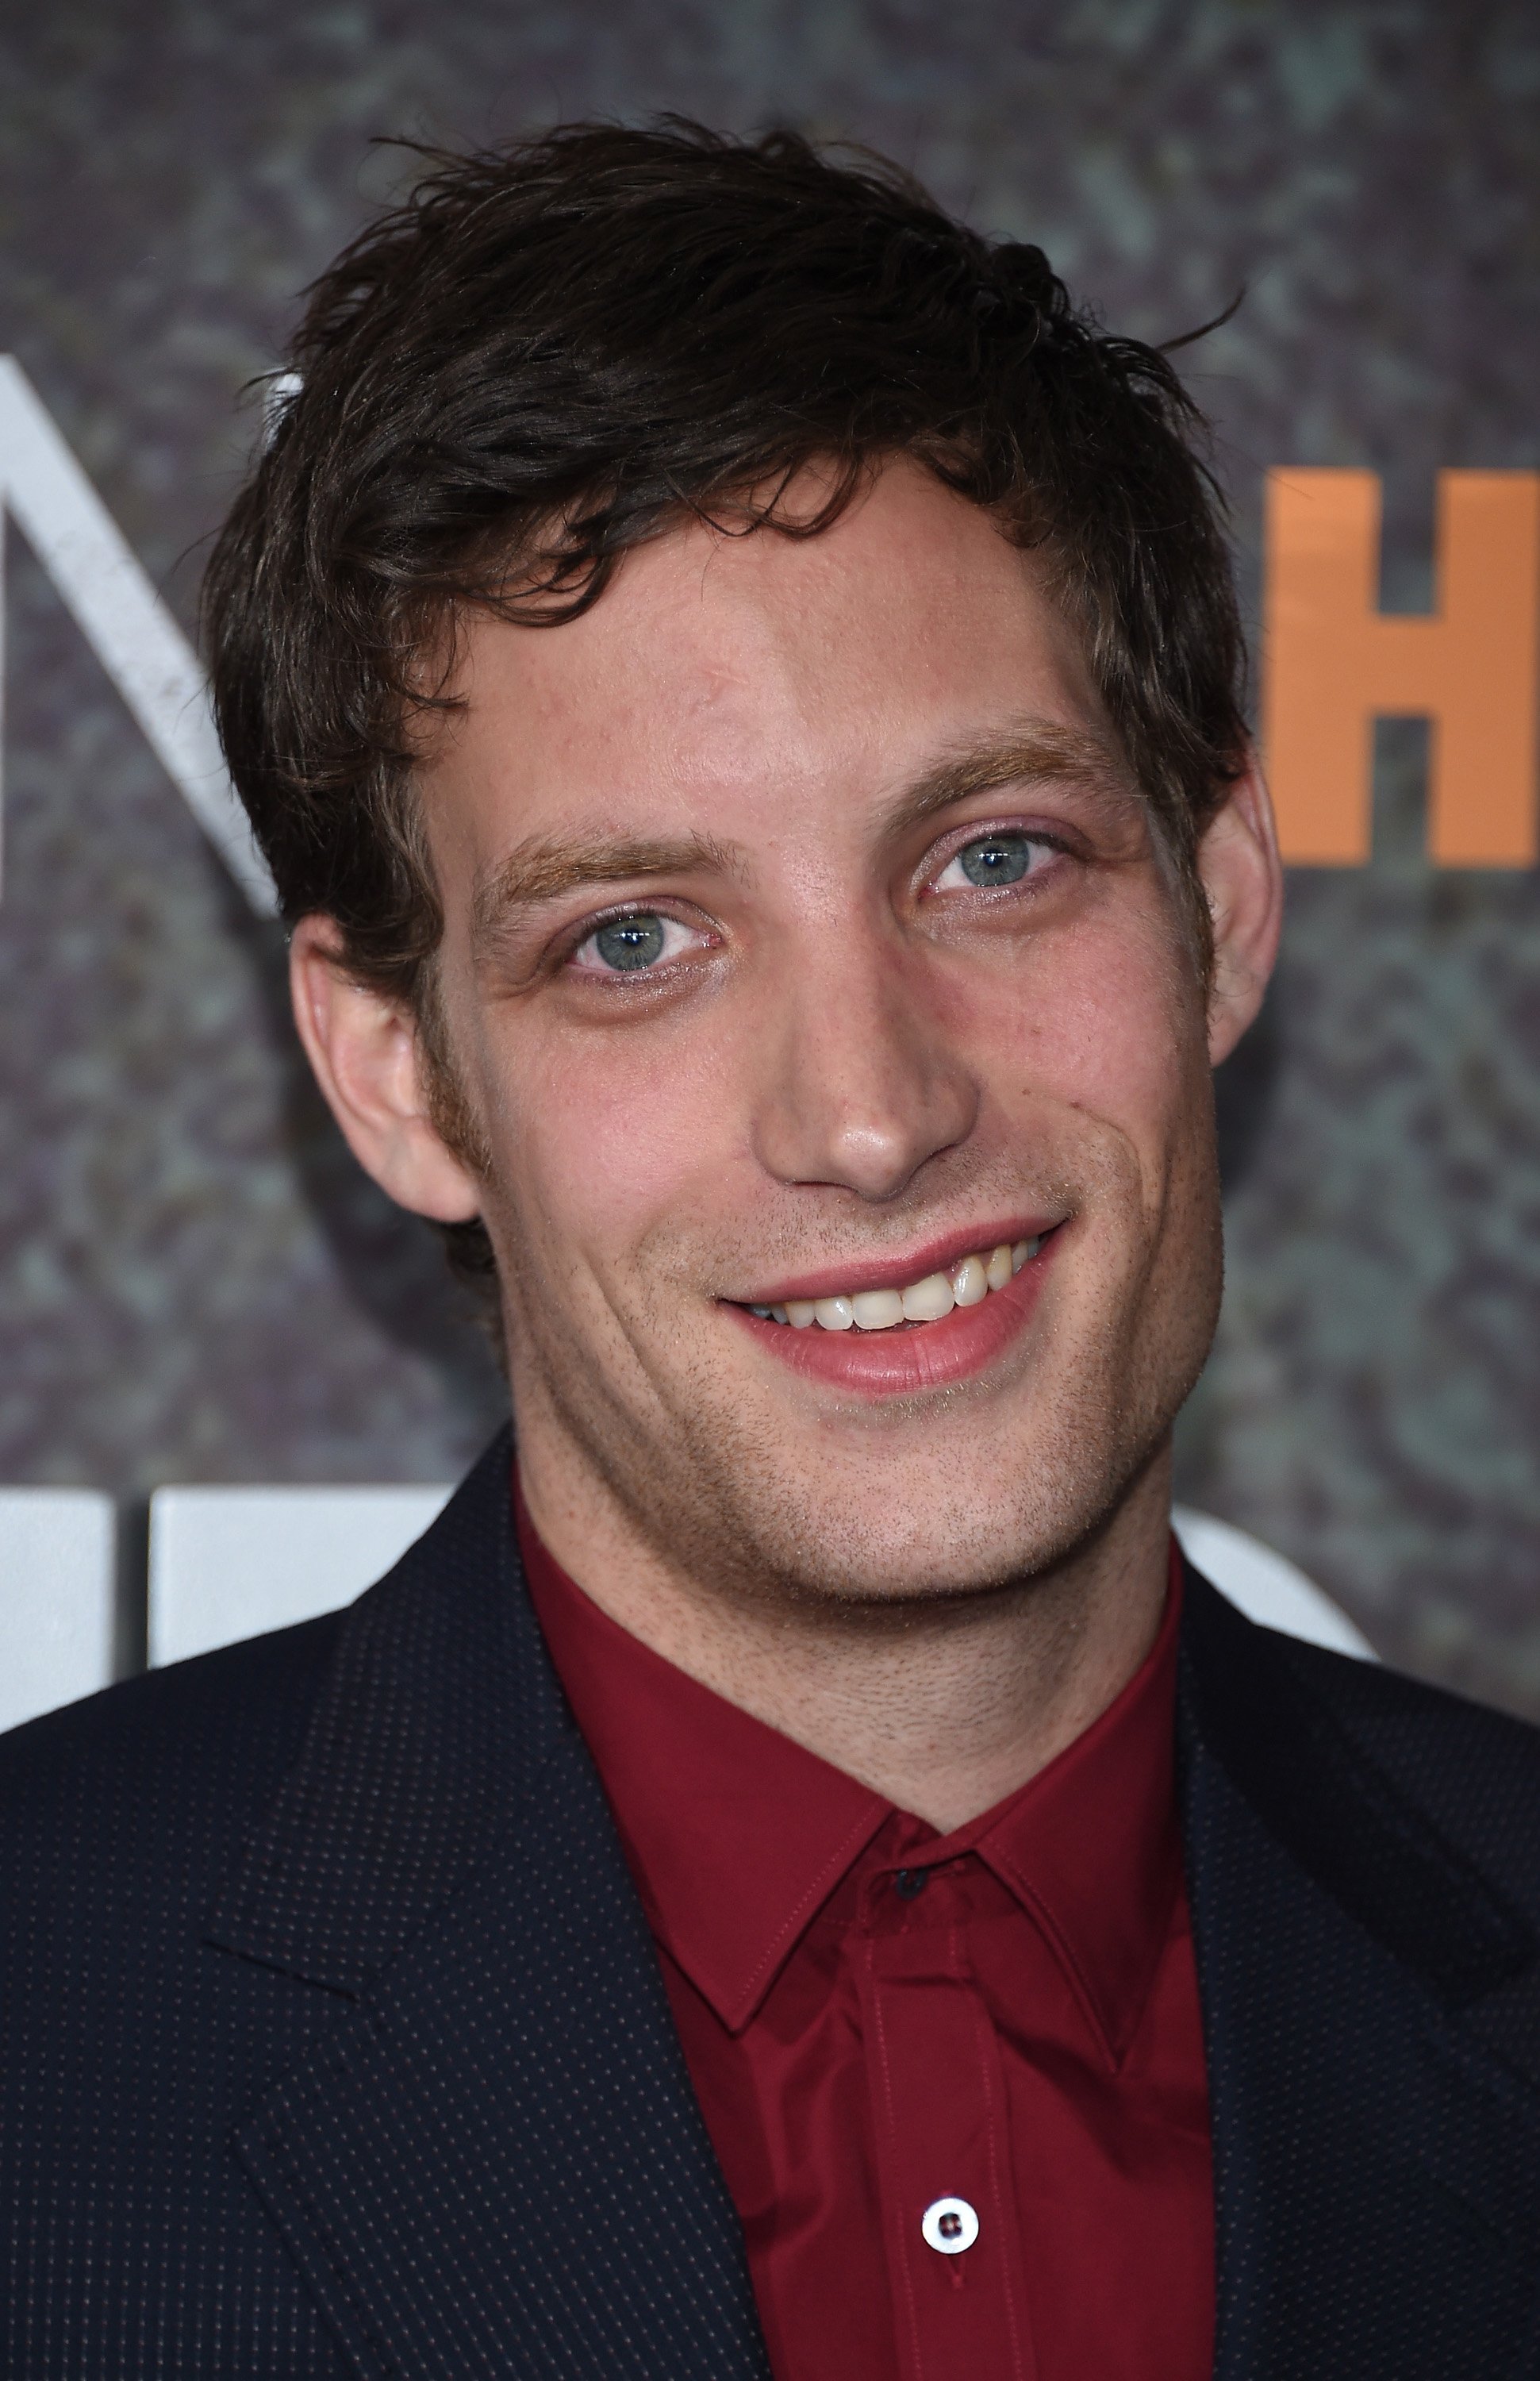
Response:
[[[309,290],[205,583],[283,914],[328,912],[443,1062],[412,762],[467,610],[559,626],[681,514],[816,536],[909,455],[1045,557],[1207,952],[1195,850],[1242,767],[1245,648],[1169,355],[864,150],[662,119],[417,155]],[[805,464],[828,495],[790,517]]]

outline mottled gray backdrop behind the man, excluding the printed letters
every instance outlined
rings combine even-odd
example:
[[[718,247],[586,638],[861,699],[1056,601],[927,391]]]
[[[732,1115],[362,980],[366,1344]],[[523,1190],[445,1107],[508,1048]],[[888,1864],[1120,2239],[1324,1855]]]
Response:
[[[1540,462],[1540,19],[1480,0],[52,0],[0,12],[0,350],[190,621],[295,293],[400,164],[659,107],[854,133],[1192,360],[1247,602],[1259,474]],[[0,902],[0,1479],[436,1479],[500,1410],[436,1245],[309,1093],[243,912],[12,536]],[[1392,1660],[1540,1717],[1540,888],[1421,857],[1385,729],[1371,869],[1302,871],[1223,1083],[1231,1291],[1181,1488]]]

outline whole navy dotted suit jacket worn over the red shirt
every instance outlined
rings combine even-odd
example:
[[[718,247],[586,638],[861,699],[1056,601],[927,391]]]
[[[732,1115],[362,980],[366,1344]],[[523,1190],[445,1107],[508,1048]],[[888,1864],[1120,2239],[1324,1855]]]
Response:
[[[764,2381],[507,1476],[0,1743],[7,2381]],[[1216,2374],[1540,2374],[1540,1736],[1190,1574],[1178,1750]]]

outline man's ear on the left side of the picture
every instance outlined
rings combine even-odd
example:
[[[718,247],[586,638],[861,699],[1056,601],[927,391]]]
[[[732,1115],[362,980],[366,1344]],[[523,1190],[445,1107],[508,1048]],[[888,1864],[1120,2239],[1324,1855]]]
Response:
[[[438,1224],[481,1214],[476,1179],[433,1129],[417,1021],[348,974],[336,919],[300,919],[288,986],[305,1057],[364,1171]]]

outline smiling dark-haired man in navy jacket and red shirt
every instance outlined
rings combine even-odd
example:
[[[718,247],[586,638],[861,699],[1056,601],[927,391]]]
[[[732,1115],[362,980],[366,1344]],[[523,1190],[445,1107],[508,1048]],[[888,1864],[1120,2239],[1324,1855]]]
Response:
[[[1540,1762],[1171,1557],[1278,857],[1164,357],[876,162],[436,160],[209,579],[500,1441],[7,1743],[7,2374],[1540,2371]]]

